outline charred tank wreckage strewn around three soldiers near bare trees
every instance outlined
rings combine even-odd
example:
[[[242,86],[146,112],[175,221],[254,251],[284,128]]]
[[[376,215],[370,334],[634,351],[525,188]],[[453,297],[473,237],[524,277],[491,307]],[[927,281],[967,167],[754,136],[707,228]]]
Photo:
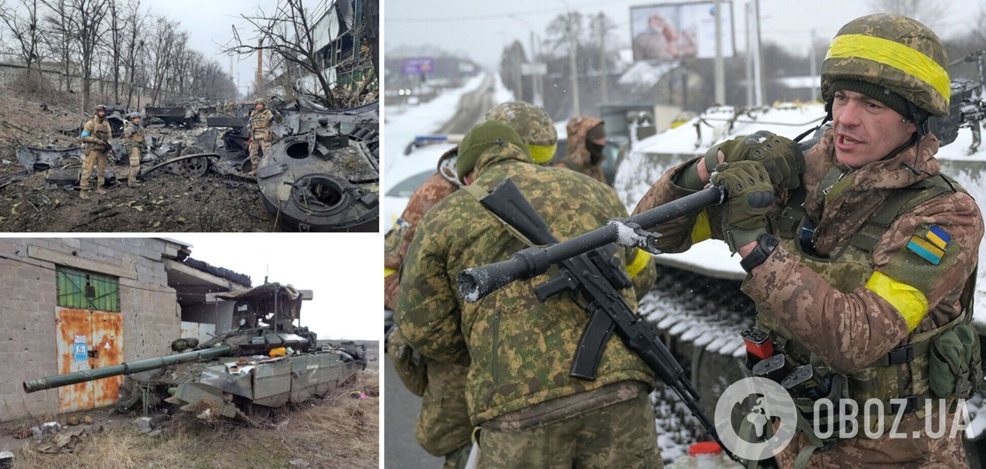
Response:
[[[285,229],[375,231],[380,204],[379,103],[329,110],[300,88],[296,91],[299,98],[290,107],[284,107],[283,100],[270,100],[278,105],[284,121],[273,126],[279,141],[270,147],[270,155],[261,158],[256,176],[250,174],[253,168],[247,157],[250,131],[246,117],[252,106],[227,103],[224,110],[235,116],[196,103],[147,107],[146,126],[165,134],[172,131],[166,126],[194,126],[200,116],[205,116],[207,128],[190,141],[161,142],[148,135],[138,177],[145,179],[161,170],[188,178],[214,173],[258,184],[264,207]],[[122,107],[114,108],[117,111],[125,114]],[[225,128],[221,144],[220,128]],[[78,134],[78,128],[59,131]],[[123,146],[111,146],[110,163],[125,165]],[[17,157],[28,171],[5,177],[0,189],[32,173],[51,170],[64,171],[45,178],[48,189],[73,189],[78,184],[80,172],[70,170],[81,165],[80,147],[24,147]]]

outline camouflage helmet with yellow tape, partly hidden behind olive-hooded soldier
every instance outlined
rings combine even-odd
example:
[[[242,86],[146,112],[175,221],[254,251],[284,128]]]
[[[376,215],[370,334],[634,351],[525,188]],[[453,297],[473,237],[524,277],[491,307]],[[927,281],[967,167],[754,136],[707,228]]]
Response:
[[[547,163],[554,157],[558,131],[544,108],[523,101],[511,101],[491,109],[483,120],[500,120],[514,127],[528,144],[534,163]]]

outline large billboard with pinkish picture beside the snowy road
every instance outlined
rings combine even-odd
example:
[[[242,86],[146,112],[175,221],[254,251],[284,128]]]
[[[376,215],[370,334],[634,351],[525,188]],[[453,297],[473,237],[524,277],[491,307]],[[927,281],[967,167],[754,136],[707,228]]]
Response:
[[[733,2],[720,2],[723,56],[732,57]],[[713,2],[630,7],[634,60],[677,60],[716,56],[716,7]]]

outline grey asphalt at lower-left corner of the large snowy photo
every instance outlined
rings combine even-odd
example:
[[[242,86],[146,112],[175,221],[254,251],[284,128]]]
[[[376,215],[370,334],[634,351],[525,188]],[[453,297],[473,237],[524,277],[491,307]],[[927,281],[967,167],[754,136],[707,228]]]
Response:
[[[411,394],[397,377],[393,363],[381,357],[384,365],[384,467],[438,469],[445,462],[425,452],[414,439],[414,421],[421,409],[421,398]]]

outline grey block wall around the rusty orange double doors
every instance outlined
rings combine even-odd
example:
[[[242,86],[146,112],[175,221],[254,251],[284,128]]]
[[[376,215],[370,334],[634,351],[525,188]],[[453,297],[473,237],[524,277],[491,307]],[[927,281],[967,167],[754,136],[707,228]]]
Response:
[[[175,290],[154,238],[0,240],[0,422],[58,411],[58,390],[25,394],[22,381],[55,374],[55,266],[119,276],[123,359],[167,354],[180,331]]]

